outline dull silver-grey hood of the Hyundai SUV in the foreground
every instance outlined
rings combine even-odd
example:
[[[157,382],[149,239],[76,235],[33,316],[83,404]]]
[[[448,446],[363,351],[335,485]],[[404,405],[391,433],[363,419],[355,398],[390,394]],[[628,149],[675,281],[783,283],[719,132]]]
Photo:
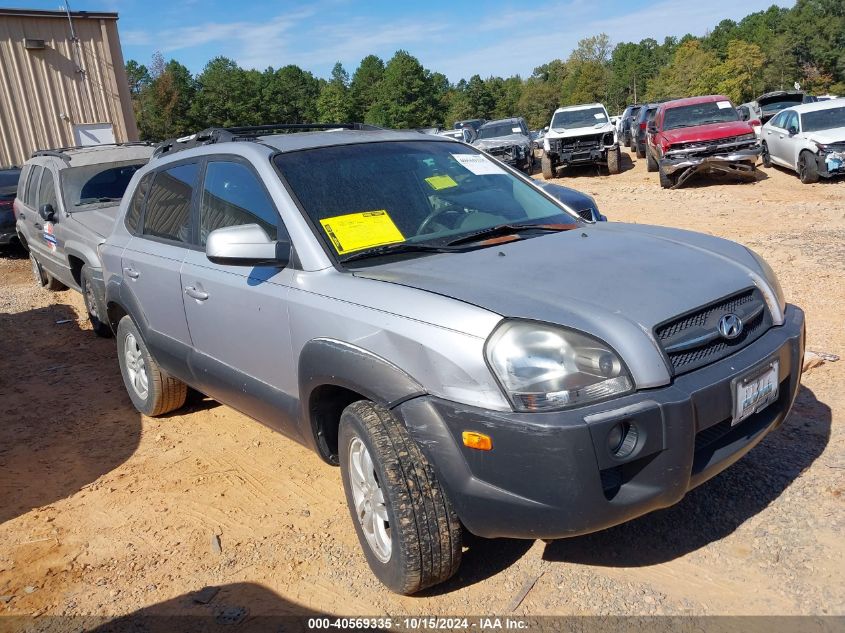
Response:
[[[354,272],[504,317],[582,330],[607,341],[626,359],[637,354],[636,343],[644,334],[651,336],[659,323],[748,288],[754,284],[752,273],[760,274],[751,254],[734,242],[622,223],[577,226]]]

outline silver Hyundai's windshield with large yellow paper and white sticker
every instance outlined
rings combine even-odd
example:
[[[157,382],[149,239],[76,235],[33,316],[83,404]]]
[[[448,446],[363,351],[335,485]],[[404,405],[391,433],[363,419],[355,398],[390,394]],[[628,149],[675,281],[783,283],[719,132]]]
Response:
[[[362,143],[274,160],[318,237],[341,261],[387,244],[444,245],[502,224],[579,221],[466,145]]]

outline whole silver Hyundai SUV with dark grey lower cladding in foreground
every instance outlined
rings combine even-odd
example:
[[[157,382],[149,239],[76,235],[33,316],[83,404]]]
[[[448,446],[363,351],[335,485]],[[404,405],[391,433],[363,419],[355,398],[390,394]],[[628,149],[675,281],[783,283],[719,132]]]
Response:
[[[674,504],[783,422],[804,314],[747,248],[586,222],[444,137],[283,131],[134,176],[102,248],[120,370],[144,414],[190,385],[339,464],[390,589],[455,573],[463,528]]]

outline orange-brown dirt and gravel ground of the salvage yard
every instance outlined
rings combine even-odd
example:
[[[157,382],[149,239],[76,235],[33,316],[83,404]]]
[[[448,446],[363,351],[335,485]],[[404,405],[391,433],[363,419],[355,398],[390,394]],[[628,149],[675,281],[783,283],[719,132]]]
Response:
[[[209,400],[138,415],[81,297],[2,258],[0,614],[845,614],[845,182],[769,169],[663,191],[625,157],[620,175],[558,182],[611,221],[754,248],[806,311],[808,349],[843,357],[805,374],[784,426],[734,467],[590,536],[469,539],[458,576],[397,596],[366,566],[337,469]]]

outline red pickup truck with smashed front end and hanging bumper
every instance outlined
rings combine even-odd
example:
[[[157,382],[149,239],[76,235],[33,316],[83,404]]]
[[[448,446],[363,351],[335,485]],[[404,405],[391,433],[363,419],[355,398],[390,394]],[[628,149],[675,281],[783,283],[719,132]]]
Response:
[[[680,187],[699,173],[755,177],[759,121],[742,121],[722,95],[661,103],[648,127],[646,160],[664,189]]]

